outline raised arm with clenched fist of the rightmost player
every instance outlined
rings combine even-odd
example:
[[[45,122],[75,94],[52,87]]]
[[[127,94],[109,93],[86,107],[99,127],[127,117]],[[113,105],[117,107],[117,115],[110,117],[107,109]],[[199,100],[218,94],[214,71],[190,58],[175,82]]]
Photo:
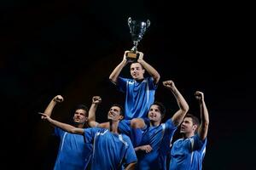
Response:
[[[208,126],[209,126],[209,114],[207,105],[205,103],[204,94],[200,91],[195,92],[195,99],[199,101],[201,111],[201,124],[198,128],[199,137],[204,140],[207,138]]]

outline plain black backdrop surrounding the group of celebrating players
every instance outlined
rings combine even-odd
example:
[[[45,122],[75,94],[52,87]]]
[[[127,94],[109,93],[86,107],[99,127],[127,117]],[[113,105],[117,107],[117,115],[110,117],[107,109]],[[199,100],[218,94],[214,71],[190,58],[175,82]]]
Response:
[[[251,169],[255,66],[242,48],[239,14],[228,5],[198,5],[1,1],[2,166],[52,168],[58,141],[38,111],[55,95],[64,97],[52,114],[61,122],[70,122],[75,105],[90,107],[93,95],[102,96],[98,122],[106,121],[110,105],[123,104],[108,76],[132,46],[131,16],[151,21],[138,50],[160,72],[155,99],[166,105],[166,118],[177,103],[162,81],[175,82],[196,116],[195,90],[205,93],[210,127],[203,169]],[[121,74],[130,77],[129,67]]]

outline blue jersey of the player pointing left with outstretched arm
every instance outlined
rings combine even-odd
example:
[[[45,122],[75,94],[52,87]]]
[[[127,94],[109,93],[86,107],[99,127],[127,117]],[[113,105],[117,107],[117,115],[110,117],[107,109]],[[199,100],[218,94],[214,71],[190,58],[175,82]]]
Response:
[[[105,128],[91,127],[84,130],[87,143],[93,143],[92,170],[124,169],[137,161],[131,139],[125,134],[115,134]]]

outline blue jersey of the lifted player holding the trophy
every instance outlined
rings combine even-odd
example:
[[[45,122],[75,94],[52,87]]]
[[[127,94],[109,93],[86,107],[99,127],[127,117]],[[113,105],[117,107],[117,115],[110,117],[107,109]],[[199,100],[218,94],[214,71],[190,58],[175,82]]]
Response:
[[[147,77],[143,82],[119,77],[117,87],[125,93],[125,119],[148,116],[157,88],[153,77]]]

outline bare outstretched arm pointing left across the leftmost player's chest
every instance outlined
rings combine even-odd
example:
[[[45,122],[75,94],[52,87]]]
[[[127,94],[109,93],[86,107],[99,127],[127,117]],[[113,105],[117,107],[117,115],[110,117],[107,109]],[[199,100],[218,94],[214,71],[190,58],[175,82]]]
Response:
[[[55,127],[60,127],[62,130],[67,131],[68,133],[76,133],[76,134],[84,134],[83,128],[73,127],[69,124],[63,123],[63,122],[57,122],[49,117],[46,113],[39,113],[41,115],[41,118],[43,120],[48,121],[51,125]]]

